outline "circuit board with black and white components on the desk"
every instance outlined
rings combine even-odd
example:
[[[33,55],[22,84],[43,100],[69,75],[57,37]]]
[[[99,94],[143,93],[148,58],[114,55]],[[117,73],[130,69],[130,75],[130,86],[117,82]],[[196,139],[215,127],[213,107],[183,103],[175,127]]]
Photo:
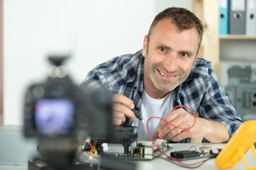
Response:
[[[157,139],[155,144],[150,141],[138,141],[137,127],[121,125],[114,128],[112,142],[105,139],[95,139],[97,154],[114,156],[125,160],[152,160],[172,149],[163,139]],[[86,150],[87,147],[85,147]]]

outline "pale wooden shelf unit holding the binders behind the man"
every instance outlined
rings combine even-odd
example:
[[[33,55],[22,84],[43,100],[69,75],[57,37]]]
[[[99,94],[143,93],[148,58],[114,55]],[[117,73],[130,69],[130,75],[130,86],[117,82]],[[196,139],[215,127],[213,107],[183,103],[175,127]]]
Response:
[[[212,62],[212,68],[217,77],[219,73],[220,61],[224,53],[254,54],[256,35],[227,34],[219,35],[219,4],[218,0],[191,0],[192,12],[204,24],[204,36],[200,47],[199,55]],[[228,49],[223,45],[230,45]],[[231,51],[229,51],[231,50]],[[237,54],[237,55],[239,55]],[[227,55],[224,55],[227,56]],[[251,55],[247,55],[251,56]],[[241,57],[244,59],[244,57]]]

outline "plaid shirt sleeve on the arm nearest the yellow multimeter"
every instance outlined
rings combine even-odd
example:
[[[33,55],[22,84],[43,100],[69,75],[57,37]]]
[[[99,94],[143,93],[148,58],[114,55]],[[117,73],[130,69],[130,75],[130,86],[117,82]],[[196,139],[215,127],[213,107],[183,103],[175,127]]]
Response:
[[[218,81],[215,72],[212,70],[211,63],[208,62],[207,65],[209,66],[209,81],[199,107],[199,116],[222,123],[229,133],[229,139],[226,141],[228,142],[241,125],[242,120],[225,95],[224,89]],[[203,139],[202,142],[209,141]]]

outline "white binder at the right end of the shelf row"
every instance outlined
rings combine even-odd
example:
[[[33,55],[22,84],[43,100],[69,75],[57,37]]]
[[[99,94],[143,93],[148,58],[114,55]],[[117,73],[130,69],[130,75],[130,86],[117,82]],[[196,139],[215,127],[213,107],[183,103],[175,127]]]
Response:
[[[247,35],[256,35],[256,0],[246,0],[246,26]]]

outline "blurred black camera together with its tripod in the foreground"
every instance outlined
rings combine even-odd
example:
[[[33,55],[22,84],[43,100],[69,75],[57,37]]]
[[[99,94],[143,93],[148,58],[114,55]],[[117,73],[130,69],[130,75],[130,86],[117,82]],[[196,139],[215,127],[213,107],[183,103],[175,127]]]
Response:
[[[115,170],[135,164],[102,157],[79,159],[75,152],[79,139],[105,137],[113,139],[112,94],[100,89],[80,87],[66,72],[63,63],[69,56],[49,56],[49,77],[42,83],[29,85],[24,102],[24,136],[37,137],[41,156],[29,161],[29,170]],[[108,161],[106,161],[108,160]]]

